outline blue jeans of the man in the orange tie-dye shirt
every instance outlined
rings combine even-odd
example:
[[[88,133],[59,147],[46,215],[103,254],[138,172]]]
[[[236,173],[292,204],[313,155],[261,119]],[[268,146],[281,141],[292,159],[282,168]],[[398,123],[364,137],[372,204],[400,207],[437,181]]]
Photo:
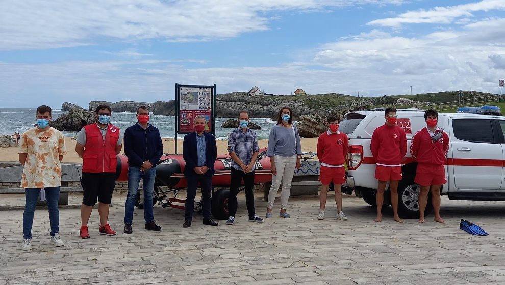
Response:
[[[58,199],[60,198],[60,187],[47,187],[45,196],[47,198],[47,209],[49,209],[49,221],[51,224],[51,236],[59,232],[60,211],[58,210]],[[24,188],[24,213],[23,213],[23,238],[32,238],[33,213],[39,198],[40,188]]]

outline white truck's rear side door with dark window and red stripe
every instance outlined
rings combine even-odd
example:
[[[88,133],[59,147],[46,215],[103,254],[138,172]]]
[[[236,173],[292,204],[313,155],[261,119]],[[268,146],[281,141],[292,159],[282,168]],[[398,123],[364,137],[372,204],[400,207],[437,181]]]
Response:
[[[460,190],[495,192],[501,188],[503,147],[489,118],[451,119],[454,186]]]

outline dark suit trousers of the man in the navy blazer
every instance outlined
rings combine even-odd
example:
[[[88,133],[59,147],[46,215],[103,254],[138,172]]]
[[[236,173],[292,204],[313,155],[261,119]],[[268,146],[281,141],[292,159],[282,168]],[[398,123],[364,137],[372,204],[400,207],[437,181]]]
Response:
[[[186,209],[184,210],[184,220],[193,220],[193,208],[195,206],[196,187],[198,182],[201,188],[201,205],[203,208],[204,220],[210,219],[212,176],[197,174],[188,176],[188,192],[186,193]]]

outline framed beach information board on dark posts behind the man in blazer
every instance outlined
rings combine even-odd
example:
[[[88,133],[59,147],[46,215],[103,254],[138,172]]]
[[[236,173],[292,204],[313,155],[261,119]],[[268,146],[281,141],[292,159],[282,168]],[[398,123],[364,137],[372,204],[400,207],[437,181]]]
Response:
[[[196,116],[207,121],[204,131],[216,134],[216,85],[175,84],[175,154],[177,134],[194,132]]]

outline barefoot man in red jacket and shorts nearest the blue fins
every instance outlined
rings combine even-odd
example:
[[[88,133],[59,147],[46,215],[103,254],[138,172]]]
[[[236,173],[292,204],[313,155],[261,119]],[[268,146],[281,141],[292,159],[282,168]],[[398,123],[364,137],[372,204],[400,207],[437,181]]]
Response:
[[[428,192],[431,190],[434,221],[445,223],[440,217],[440,187],[447,182],[444,164],[449,151],[449,136],[437,127],[437,111],[425,111],[424,120],[426,127],[418,131],[410,143],[410,153],[417,161],[414,182],[421,185],[417,222],[424,223],[424,210],[428,202]]]

